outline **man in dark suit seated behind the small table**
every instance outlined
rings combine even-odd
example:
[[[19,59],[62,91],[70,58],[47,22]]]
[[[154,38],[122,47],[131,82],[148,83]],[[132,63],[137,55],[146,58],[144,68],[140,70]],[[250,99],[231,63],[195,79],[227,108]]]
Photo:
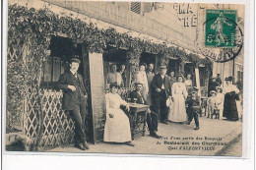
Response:
[[[147,99],[142,94],[143,84],[137,82],[135,83],[135,85],[136,85],[136,89],[130,92],[129,98],[131,98],[132,102],[134,102],[134,99],[137,98],[136,103],[148,105]],[[153,109],[152,106],[151,106],[151,109]],[[159,126],[159,123],[158,123],[159,115],[151,109],[148,109],[146,111],[147,124],[150,130],[150,136],[160,139],[160,136],[156,133],[158,131],[158,126]]]

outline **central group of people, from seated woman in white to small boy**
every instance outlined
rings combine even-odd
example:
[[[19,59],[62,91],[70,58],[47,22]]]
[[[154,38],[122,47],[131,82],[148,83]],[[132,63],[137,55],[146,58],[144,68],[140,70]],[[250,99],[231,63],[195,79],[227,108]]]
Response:
[[[198,96],[195,95],[196,98],[192,97],[188,102],[189,109],[193,113],[189,115],[188,119],[185,106],[188,93],[186,85],[183,83],[185,79],[182,75],[175,78],[174,72],[170,72],[170,76],[167,76],[166,71],[166,66],[160,66],[160,73],[155,75],[153,64],[149,64],[148,72],[146,72],[146,65],[141,64],[138,73],[135,75],[135,82],[133,83],[135,88],[128,96],[132,103],[150,105],[150,108],[146,111],[147,125],[150,136],[157,139],[160,138],[157,134],[159,117],[163,124],[168,124],[167,121],[191,122],[193,118],[198,123],[198,117],[196,117],[198,111],[194,109],[200,107]],[[187,85],[191,86],[191,76],[188,78]],[[134,145],[131,142],[129,118],[124,110],[120,109],[120,106],[124,105],[129,110],[129,103],[117,94],[117,83],[109,84],[109,88],[110,92],[106,94],[106,122],[103,141],[124,142],[128,145]],[[167,100],[171,100],[169,110],[166,105]],[[199,124],[197,124],[197,129],[199,129]]]

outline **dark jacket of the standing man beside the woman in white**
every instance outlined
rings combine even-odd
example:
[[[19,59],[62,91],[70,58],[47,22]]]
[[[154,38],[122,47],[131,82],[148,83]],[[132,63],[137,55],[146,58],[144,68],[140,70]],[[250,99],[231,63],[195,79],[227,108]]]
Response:
[[[151,87],[152,87],[152,91],[154,93],[154,95],[157,97],[160,95],[160,92],[157,92],[157,88],[161,89],[161,85],[164,85],[164,91],[165,91],[165,95],[166,97],[168,97],[169,95],[171,95],[171,86],[170,86],[170,80],[168,76],[164,76],[164,79],[162,80],[160,77],[160,74],[156,75],[153,78],[153,81],[151,83]]]

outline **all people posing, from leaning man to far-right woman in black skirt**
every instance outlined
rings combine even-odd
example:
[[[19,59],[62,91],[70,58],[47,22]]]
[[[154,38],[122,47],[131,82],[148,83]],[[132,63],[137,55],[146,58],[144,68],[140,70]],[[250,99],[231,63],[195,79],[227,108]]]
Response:
[[[90,149],[85,135],[85,106],[88,94],[82,76],[77,73],[79,64],[78,58],[71,59],[70,71],[60,76],[56,88],[63,90],[62,108],[69,110],[75,123],[75,146],[85,150]],[[120,67],[117,73],[116,65],[113,65],[111,73],[107,74],[106,83],[109,85],[110,92],[105,94],[106,122],[103,141],[124,142],[134,146],[131,142],[129,117],[120,108],[123,105],[129,112],[129,103],[117,93],[118,87],[123,85],[125,79],[124,70],[125,67]],[[166,71],[166,66],[160,66],[160,73],[155,75],[154,65],[150,64],[146,73],[146,65],[142,64],[136,74],[135,88],[129,94],[132,102],[150,105],[146,111],[147,125],[150,136],[157,139],[160,138],[157,134],[159,117],[160,123],[163,124],[168,124],[168,121],[190,124],[194,118],[195,130],[199,129],[198,113],[201,109],[201,99],[198,95],[198,88],[191,88],[193,85],[191,75],[188,75],[185,80],[182,75],[175,78],[174,72],[170,72],[170,76],[167,76]],[[224,88],[224,117],[237,120],[235,99],[237,99],[239,90],[230,84],[229,78],[225,81],[227,85]],[[187,92],[188,87],[192,89],[191,94]]]

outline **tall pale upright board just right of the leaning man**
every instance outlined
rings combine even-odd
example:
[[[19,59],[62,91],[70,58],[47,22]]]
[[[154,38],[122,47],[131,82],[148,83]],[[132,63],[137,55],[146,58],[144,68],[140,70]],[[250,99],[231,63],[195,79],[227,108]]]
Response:
[[[89,54],[91,104],[93,112],[94,142],[103,140],[105,124],[105,91],[102,54]]]

